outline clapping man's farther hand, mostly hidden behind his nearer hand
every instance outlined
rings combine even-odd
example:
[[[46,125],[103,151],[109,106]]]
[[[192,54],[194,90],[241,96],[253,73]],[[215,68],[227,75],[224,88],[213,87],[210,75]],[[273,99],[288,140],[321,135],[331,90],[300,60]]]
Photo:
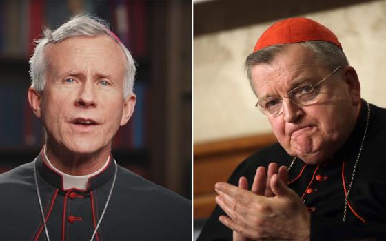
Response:
[[[265,167],[258,167],[256,169],[256,174],[254,176],[254,181],[252,183],[251,191],[258,195],[263,195],[267,197],[274,196],[272,189],[270,187],[270,180],[272,175],[278,174],[278,177],[284,182],[288,181],[288,169],[285,166],[278,168],[276,163],[270,163],[268,165],[268,171],[265,171]],[[247,190],[248,189],[248,180],[244,176],[238,179],[238,187]],[[250,241],[249,238],[244,238],[241,234],[233,231],[233,240],[234,241]]]

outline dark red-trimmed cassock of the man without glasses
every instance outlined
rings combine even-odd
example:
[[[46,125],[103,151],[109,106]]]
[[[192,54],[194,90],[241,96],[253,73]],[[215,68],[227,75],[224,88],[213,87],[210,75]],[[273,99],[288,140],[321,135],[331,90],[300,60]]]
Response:
[[[37,157],[37,179],[50,240],[90,240],[108,198],[110,161],[88,189],[63,190],[61,175]],[[34,162],[0,175],[0,240],[46,240]],[[117,166],[112,197],[94,240],[191,240],[192,205],[176,193]]]

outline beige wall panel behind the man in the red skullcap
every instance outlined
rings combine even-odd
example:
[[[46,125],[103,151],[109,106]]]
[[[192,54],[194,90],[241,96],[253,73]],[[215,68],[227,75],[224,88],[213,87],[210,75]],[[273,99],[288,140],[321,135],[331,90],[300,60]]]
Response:
[[[358,72],[362,96],[386,107],[386,1],[303,15],[340,39]],[[270,132],[243,70],[245,57],[272,22],[194,39],[194,143]]]

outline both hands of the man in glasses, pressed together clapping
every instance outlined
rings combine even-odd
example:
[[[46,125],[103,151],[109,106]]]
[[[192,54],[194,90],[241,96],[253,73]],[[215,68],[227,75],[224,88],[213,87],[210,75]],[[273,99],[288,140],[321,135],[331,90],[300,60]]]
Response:
[[[245,177],[238,187],[216,183],[216,202],[227,213],[219,220],[233,230],[234,241],[309,240],[309,212],[287,180],[287,167],[270,163],[267,171],[256,169],[250,191]]]

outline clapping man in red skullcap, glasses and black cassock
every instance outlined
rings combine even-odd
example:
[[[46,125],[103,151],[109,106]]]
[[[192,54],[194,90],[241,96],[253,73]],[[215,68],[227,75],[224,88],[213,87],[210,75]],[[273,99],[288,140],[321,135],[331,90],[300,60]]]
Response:
[[[199,240],[385,240],[386,109],[360,98],[335,34],[278,21],[245,68],[278,143],[216,183]]]

